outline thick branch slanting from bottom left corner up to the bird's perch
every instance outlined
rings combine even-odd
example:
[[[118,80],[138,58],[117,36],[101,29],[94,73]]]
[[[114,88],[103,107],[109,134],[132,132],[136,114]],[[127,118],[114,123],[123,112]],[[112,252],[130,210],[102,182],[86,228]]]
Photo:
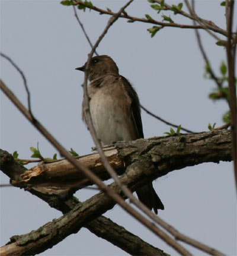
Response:
[[[153,166],[147,166],[146,163],[135,162],[127,168],[128,172],[121,176],[121,181],[126,184],[127,187],[136,189],[137,180],[144,179],[143,169],[148,168],[152,169]],[[111,184],[110,188],[122,195],[120,188],[116,184]],[[11,245],[7,245],[8,249],[11,248],[12,251],[14,251],[15,246],[18,246],[18,248],[21,249],[21,254],[18,255],[39,254],[48,248],[52,248],[53,245],[62,241],[66,236],[78,232],[86,223],[97,218],[110,208],[113,208],[114,204],[116,204],[116,202],[105,194],[105,192],[100,192],[84,203],[78,204],[69,213],[57,220],[53,220],[53,222],[47,223],[38,230],[34,230],[27,235],[15,236],[11,239]],[[153,224],[151,223],[150,225]],[[164,232],[159,235],[163,236]],[[168,238],[166,237],[165,239]],[[17,244],[15,244],[15,242],[17,242]],[[13,246],[13,248],[11,246]]]

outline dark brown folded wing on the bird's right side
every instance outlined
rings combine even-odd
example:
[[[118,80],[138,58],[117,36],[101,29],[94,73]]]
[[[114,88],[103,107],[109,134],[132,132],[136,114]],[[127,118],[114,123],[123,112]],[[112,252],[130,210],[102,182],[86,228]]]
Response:
[[[137,131],[137,138],[144,138],[143,129],[142,129],[142,118],[140,115],[140,102],[139,102],[137,93],[134,90],[132,84],[130,84],[125,77],[121,76],[121,80],[123,82],[123,85],[126,87],[126,91],[129,94],[129,97],[132,100],[132,103],[131,103],[132,116],[133,116],[134,127],[136,127],[136,131]]]

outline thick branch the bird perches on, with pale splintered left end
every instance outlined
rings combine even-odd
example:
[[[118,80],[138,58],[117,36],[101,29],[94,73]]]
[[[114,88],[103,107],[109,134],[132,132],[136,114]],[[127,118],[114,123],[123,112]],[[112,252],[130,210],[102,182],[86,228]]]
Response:
[[[145,161],[156,166],[153,173],[150,173],[150,180],[187,166],[232,160],[229,130],[139,139],[126,143],[119,142],[114,147],[107,148],[105,156],[119,174],[124,172],[125,166],[137,160]],[[78,160],[101,179],[110,178],[98,153],[78,157]],[[6,174],[9,176],[9,173]],[[20,182],[13,185],[34,187],[40,184],[41,187],[79,189],[92,184],[81,171],[65,159],[33,167],[21,175],[21,178]]]

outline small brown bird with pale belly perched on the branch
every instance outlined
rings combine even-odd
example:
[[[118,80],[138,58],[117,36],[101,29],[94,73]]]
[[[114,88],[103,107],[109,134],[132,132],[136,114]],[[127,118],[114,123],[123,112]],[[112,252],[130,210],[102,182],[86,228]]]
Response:
[[[116,62],[110,56],[94,56],[76,70],[87,72],[89,109],[101,144],[132,141],[144,138],[140,103],[136,91],[127,78],[119,74]],[[87,123],[85,96],[82,101],[82,120]],[[158,214],[164,205],[152,182],[136,190],[137,197],[150,210]]]

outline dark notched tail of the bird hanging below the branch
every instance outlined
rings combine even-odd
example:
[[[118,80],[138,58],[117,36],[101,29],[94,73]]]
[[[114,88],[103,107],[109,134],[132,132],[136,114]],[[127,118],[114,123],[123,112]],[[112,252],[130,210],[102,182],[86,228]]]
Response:
[[[153,188],[152,182],[148,185],[145,185],[142,188],[137,189],[136,191],[138,199],[145,204],[150,210],[155,211],[155,214],[158,213],[158,209],[164,210],[164,205],[162,204],[161,199],[159,199],[158,195]]]

